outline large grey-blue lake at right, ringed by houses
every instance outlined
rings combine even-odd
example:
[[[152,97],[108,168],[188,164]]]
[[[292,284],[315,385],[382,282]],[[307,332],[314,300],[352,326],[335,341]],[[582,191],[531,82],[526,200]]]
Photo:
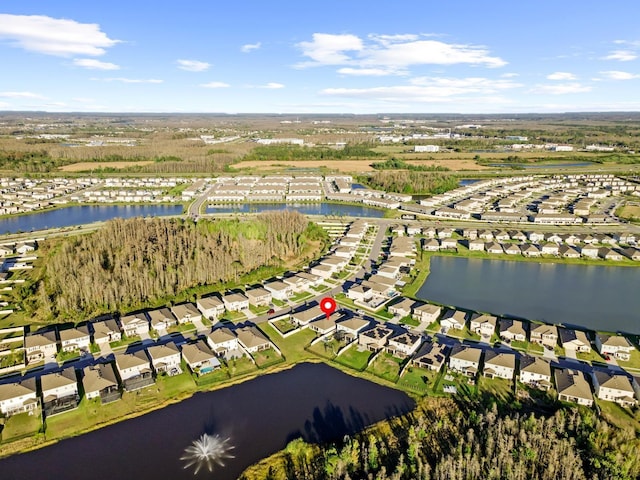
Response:
[[[417,296],[498,315],[640,333],[640,268],[432,257]]]

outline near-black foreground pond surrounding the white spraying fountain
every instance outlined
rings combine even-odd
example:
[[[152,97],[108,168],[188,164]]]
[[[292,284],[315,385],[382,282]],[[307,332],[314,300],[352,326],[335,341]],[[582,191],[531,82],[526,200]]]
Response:
[[[339,439],[414,406],[398,390],[324,364],[302,364],[0,460],[0,478],[230,480],[290,440]],[[235,458],[213,475],[201,471],[194,477],[179,458],[205,432],[230,437]]]

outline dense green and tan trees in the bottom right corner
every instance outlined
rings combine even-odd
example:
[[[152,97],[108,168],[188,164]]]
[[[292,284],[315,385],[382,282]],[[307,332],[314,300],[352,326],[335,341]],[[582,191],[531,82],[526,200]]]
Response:
[[[427,398],[411,414],[319,446],[302,439],[242,480],[631,480],[640,440],[586,408],[549,416]]]

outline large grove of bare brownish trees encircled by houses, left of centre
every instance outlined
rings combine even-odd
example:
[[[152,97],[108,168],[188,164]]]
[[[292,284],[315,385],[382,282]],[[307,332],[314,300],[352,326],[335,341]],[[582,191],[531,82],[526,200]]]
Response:
[[[253,221],[134,218],[53,245],[37,309],[59,319],[115,311],[200,285],[238,281],[264,266],[316,254],[324,232],[294,211]]]

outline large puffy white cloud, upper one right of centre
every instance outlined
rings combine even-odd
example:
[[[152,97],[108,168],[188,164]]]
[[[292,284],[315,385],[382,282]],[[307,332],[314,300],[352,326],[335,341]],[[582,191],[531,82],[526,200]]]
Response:
[[[298,68],[345,65],[354,74],[358,69],[371,69],[390,75],[405,73],[412,65],[471,64],[502,67],[507,64],[489,55],[485,47],[426,40],[425,35],[369,35],[367,42],[351,34],[314,33],[313,40],[297,46],[311,61],[299,63]],[[344,74],[344,72],[343,72]]]

